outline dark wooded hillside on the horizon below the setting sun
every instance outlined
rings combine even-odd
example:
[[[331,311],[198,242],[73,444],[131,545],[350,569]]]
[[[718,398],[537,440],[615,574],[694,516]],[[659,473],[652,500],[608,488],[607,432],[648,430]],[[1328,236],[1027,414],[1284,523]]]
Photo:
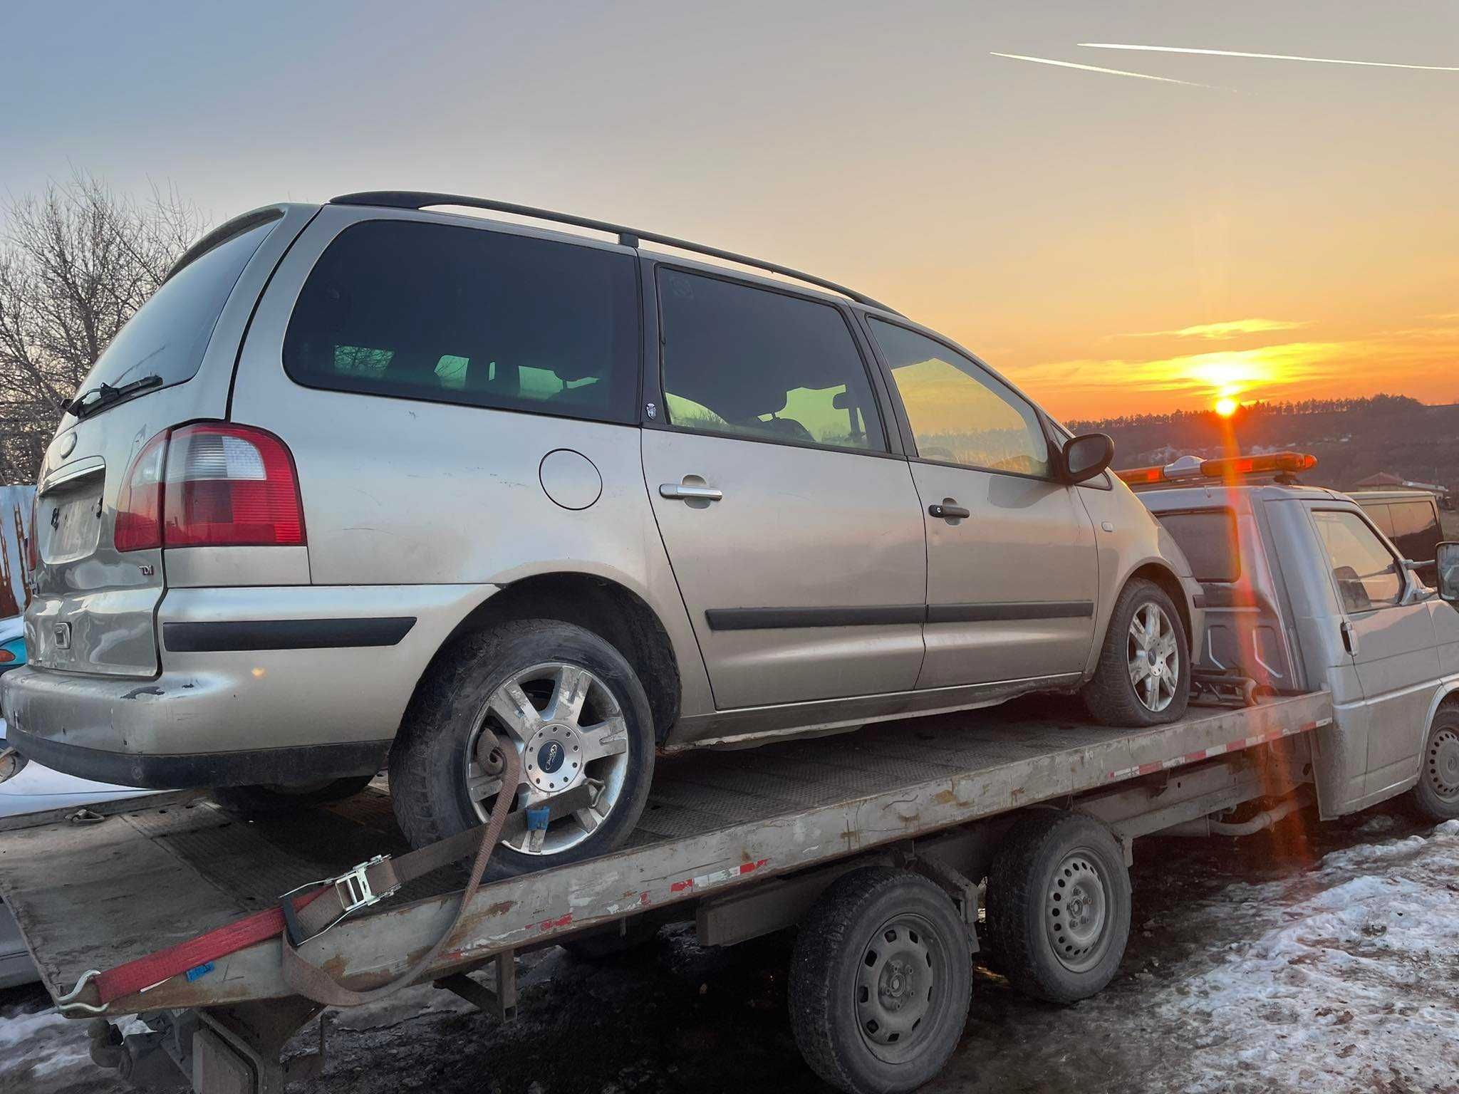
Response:
[[[1388,471],[1406,480],[1459,490],[1459,404],[1427,406],[1405,395],[1304,403],[1255,403],[1230,420],[1214,411],[1141,414],[1069,422],[1077,433],[1115,438],[1115,467],[1199,457],[1293,449],[1312,452],[1317,467],[1303,476],[1315,486],[1351,489]]]

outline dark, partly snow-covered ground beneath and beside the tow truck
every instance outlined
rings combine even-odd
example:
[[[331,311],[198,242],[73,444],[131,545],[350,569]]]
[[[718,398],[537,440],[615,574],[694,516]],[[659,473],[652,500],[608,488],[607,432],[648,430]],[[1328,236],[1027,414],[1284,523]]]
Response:
[[[1245,840],[1148,839],[1134,882],[1115,983],[1050,1006],[979,966],[928,1091],[1459,1094],[1459,821],[1299,814]],[[509,1025],[413,989],[340,1014],[324,1075],[290,1094],[824,1090],[786,1021],[791,945],[702,950],[670,926],[607,964],[547,950]],[[19,989],[0,992],[0,1090],[125,1087],[89,1063],[83,1024]]]

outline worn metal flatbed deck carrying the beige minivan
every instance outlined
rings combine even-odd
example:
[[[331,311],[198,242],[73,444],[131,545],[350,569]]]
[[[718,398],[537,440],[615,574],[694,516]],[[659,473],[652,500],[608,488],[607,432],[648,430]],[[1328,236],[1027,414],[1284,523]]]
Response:
[[[1144,731],[1093,726],[1058,705],[1015,703],[748,751],[667,756],[624,847],[481,887],[460,941],[432,976],[1026,805],[1069,804],[1258,745],[1281,747],[1331,716],[1326,693],[1239,710],[1192,706],[1182,721]],[[143,799],[98,824],[0,833],[0,894],[54,996],[88,969],[143,957],[268,907],[296,885],[403,850],[379,788],[267,823],[238,821],[206,799],[159,807]],[[384,983],[445,928],[458,884],[454,874],[423,878],[302,953],[352,988]],[[177,976],[117,999],[105,1012],[287,995],[279,942],[268,941],[219,958],[197,979]]]

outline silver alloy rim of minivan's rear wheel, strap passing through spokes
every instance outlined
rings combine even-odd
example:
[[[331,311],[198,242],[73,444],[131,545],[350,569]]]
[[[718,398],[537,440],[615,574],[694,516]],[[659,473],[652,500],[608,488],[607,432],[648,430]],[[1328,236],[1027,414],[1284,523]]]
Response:
[[[511,788],[512,811],[588,782],[595,796],[588,808],[547,824],[540,846],[521,831],[502,843],[522,855],[560,855],[588,839],[613,814],[629,770],[629,731],[617,696],[582,665],[544,661],[503,680],[483,703],[465,747],[465,789],[484,821],[503,792],[500,767],[483,742],[490,729],[521,757],[521,782]]]

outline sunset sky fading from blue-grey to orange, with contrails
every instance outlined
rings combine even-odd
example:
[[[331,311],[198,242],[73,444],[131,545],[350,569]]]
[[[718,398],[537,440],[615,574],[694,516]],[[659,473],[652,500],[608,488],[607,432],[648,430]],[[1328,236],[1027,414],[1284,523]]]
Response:
[[[1067,419],[1459,400],[1452,1],[296,7],[6,6],[0,190],[641,223],[854,284]]]

